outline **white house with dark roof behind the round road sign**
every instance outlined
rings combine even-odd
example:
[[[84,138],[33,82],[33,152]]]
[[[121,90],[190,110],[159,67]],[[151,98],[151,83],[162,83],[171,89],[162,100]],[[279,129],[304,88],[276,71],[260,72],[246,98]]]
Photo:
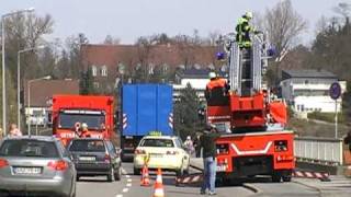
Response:
[[[331,72],[325,70],[283,70],[280,86],[282,97],[297,113],[333,113],[336,102],[329,96],[329,88],[333,82],[340,83],[342,93],[346,91],[346,81],[339,81]],[[341,101],[341,97],[337,101],[339,112]]]

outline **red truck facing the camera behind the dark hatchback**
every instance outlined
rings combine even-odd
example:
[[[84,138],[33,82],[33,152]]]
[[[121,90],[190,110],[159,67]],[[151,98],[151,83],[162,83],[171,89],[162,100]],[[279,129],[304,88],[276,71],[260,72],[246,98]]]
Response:
[[[88,126],[92,138],[110,138],[114,131],[112,96],[54,95],[52,106],[53,135],[64,144],[79,137]]]

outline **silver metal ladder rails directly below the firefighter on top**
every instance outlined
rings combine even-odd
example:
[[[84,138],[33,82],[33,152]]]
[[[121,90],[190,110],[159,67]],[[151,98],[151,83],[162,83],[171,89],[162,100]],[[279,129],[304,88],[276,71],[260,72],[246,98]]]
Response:
[[[251,95],[262,85],[261,42],[253,37],[250,50],[239,48],[236,42],[230,44],[229,80],[230,90],[239,96]]]

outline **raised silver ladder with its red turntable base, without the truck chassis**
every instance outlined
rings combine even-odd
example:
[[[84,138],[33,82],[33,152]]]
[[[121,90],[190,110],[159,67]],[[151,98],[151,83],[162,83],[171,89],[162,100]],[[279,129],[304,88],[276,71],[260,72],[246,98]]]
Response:
[[[228,54],[229,106],[208,106],[208,120],[226,123],[236,130],[283,129],[286,124],[285,105],[272,102],[263,83],[269,58],[265,36],[252,36],[249,48],[240,48],[234,37],[229,35],[220,40]]]

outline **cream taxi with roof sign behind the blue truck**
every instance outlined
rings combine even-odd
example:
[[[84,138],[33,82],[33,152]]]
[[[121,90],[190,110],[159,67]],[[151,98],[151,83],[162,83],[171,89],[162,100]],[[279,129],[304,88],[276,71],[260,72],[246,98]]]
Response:
[[[134,174],[147,164],[149,170],[176,172],[177,176],[189,173],[190,155],[180,138],[174,136],[146,136],[134,154]]]

